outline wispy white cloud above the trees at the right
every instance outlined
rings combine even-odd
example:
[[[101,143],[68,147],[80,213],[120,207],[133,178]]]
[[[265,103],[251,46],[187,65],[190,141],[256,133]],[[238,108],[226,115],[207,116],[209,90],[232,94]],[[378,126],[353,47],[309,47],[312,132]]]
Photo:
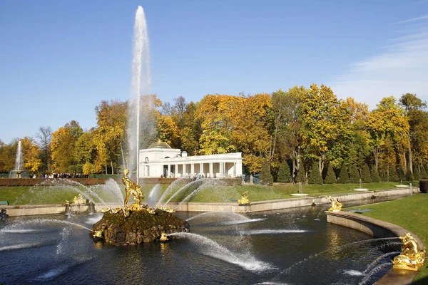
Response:
[[[392,39],[393,44],[371,58],[352,64],[330,86],[338,98],[353,97],[369,104],[371,109],[391,95],[398,99],[404,93],[416,93],[422,100],[428,100],[427,35],[428,28],[419,26],[405,36]]]

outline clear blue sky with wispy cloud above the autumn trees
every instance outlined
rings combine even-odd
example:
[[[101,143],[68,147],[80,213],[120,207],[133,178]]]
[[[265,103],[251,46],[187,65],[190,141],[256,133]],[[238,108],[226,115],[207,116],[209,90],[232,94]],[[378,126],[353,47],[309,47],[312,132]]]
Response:
[[[0,140],[89,129],[101,100],[127,100],[138,5],[163,101],[310,83],[370,108],[428,100],[428,0],[0,1]]]

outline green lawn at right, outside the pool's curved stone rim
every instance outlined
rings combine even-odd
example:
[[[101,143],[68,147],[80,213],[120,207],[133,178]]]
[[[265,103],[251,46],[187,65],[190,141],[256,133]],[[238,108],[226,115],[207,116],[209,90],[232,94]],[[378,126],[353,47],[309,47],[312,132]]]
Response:
[[[392,224],[397,224],[404,229],[417,234],[428,247],[428,194],[416,194],[389,202],[370,204],[362,206],[360,209],[372,209],[371,212],[364,213],[367,217],[382,219]],[[428,259],[419,268],[419,274],[414,279],[415,284],[428,282]],[[424,280],[422,280],[424,279]]]

